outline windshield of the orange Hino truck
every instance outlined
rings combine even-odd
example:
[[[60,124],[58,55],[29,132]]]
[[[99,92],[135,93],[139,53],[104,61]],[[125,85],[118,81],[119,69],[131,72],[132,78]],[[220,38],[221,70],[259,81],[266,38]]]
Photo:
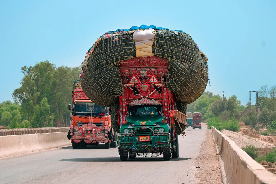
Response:
[[[107,116],[108,108],[92,102],[76,102],[73,115],[75,116]]]

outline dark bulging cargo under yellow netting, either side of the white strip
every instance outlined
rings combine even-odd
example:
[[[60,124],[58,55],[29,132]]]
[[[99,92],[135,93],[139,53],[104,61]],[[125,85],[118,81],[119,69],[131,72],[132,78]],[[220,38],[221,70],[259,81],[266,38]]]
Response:
[[[83,91],[96,104],[114,106],[123,92],[118,64],[136,56],[133,31],[105,34],[89,49],[81,71]],[[207,58],[189,34],[154,30],[152,55],[169,62],[166,86],[187,105],[195,101],[208,82]]]

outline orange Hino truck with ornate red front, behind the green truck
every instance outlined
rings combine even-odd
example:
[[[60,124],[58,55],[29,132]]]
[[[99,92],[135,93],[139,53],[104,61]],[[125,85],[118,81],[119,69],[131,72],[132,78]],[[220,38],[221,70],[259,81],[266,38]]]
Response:
[[[105,148],[117,147],[118,133],[111,127],[110,107],[93,103],[83,92],[81,82],[74,82],[73,104],[68,105],[71,111],[72,124],[67,138],[73,149],[104,143]]]

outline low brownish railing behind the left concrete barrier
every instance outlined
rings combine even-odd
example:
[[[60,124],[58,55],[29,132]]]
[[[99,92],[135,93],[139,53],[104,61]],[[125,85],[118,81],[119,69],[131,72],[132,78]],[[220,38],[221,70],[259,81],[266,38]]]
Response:
[[[47,128],[27,128],[27,129],[0,129],[0,136],[24,135],[39,133],[68,132],[70,127],[47,127]]]

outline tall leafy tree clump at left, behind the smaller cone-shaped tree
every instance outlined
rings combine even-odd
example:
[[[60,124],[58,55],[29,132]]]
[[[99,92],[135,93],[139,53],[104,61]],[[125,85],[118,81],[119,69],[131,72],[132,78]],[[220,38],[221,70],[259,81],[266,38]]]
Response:
[[[32,121],[35,107],[45,97],[53,115],[54,126],[68,126],[70,112],[66,109],[72,103],[74,81],[79,78],[80,67],[56,68],[49,61],[39,62],[35,66],[21,68],[23,78],[21,87],[12,94],[16,103],[21,104],[22,119]]]

